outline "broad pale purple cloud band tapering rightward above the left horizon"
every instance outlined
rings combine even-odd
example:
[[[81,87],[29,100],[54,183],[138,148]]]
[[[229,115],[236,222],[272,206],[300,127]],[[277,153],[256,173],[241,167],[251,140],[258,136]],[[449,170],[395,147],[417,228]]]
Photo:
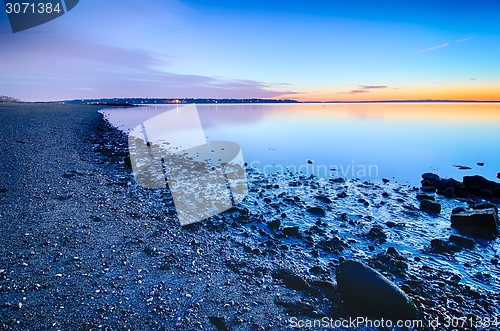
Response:
[[[0,90],[25,101],[135,96],[276,98],[297,93],[284,90],[283,83],[161,71],[156,68],[168,67],[172,61],[164,54],[51,35],[39,39],[30,34],[4,38]]]

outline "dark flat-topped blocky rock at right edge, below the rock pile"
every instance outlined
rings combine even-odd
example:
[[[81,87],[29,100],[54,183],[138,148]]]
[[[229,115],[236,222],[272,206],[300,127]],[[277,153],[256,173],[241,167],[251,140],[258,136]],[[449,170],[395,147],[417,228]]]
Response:
[[[494,208],[463,211],[451,215],[455,227],[478,227],[498,234],[498,216]]]

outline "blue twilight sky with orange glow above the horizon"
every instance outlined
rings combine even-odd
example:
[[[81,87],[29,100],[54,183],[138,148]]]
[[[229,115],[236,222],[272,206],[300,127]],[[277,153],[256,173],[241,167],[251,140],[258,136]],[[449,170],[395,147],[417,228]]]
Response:
[[[81,0],[13,33],[2,8],[0,95],[500,101],[498,13],[483,0]]]

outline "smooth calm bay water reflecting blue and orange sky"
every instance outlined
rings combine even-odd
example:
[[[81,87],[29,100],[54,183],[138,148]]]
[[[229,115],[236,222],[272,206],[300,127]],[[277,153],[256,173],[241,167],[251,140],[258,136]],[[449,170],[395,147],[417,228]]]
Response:
[[[128,132],[174,109],[182,105],[102,112]],[[500,171],[500,104],[212,104],[197,110],[207,141],[238,143],[245,162],[265,173],[290,169],[416,185],[429,171],[456,179],[495,179]]]

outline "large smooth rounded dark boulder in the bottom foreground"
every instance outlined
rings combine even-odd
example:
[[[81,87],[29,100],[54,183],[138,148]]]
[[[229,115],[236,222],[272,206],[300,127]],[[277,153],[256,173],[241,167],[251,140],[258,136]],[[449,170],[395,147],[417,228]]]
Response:
[[[354,260],[337,267],[338,290],[347,306],[362,315],[390,319],[414,319],[413,301],[374,269]]]

